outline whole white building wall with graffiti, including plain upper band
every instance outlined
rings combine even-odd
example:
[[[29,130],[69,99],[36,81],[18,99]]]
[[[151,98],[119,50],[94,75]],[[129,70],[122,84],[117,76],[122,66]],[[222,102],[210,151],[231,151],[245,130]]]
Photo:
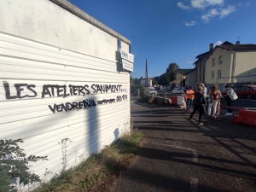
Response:
[[[48,156],[31,171],[49,180],[130,131],[130,74],[117,67],[129,39],[62,0],[3,0],[0,18],[0,139]]]

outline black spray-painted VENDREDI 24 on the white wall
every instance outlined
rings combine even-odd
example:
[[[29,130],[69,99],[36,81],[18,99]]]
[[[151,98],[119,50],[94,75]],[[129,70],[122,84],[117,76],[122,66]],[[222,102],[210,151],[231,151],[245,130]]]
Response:
[[[54,104],[53,107],[51,105],[48,106],[49,109],[52,111],[52,113],[55,113],[55,112],[63,112],[63,111],[71,111],[71,110],[79,110],[79,109],[82,109],[82,108],[91,108],[91,107],[96,107],[96,103],[94,100],[83,100],[83,102],[66,102],[65,104],[64,103],[61,103],[61,104]]]

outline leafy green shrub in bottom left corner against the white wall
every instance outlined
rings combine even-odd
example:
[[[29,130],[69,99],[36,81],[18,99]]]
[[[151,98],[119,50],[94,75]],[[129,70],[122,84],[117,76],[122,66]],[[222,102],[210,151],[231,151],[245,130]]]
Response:
[[[0,191],[17,191],[10,186],[9,180],[12,178],[18,178],[19,183],[24,185],[40,181],[38,175],[29,171],[28,162],[47,160],[47,156],[30,155],[26,158],[24,149],[18,143],[23,143],[22,139],[0,140]]]

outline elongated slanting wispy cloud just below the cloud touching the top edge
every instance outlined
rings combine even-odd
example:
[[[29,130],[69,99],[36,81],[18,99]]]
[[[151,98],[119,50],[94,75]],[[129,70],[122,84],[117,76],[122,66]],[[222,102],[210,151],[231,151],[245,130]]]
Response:
[[[222,19],[234,11],[236,11],[236,7],[233,5],[229,5],[227,9],[212,9],[208,11],[207,15],[202,15],[201,20],[208,22],[212,17],[215,16],[219,16],[219,18]]]

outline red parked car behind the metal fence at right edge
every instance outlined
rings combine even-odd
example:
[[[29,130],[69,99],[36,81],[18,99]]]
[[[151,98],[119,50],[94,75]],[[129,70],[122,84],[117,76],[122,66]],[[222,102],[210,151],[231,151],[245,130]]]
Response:
[[[256,99],[256,85],[241,85],[233,88],[240,99]],[[227,90],[222,92],[223,96],[227,95]]]

